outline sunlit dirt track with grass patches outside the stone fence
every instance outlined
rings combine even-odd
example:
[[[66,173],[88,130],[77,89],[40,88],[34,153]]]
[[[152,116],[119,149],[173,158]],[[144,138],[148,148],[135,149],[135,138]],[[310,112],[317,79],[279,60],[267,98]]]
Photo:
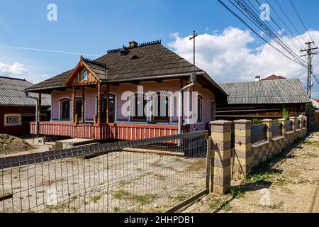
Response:
[[[319,133],[259,165],[230,194],[209,194],[184,212],[319,212]]]

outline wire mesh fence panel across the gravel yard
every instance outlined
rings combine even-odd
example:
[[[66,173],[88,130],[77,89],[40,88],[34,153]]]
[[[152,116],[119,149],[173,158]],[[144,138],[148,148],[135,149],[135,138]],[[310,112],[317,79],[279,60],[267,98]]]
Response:
[[[0,159],[0,212],[162,212],[206,189],[206,131]]]

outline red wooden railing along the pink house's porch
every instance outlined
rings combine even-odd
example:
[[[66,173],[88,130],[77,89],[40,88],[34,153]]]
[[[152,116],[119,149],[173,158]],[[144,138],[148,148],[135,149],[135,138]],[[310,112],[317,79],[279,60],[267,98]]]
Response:
[[[182,126],[182,133],[188,133],[189,128],[189,126]],[[35,134],[35,122],[30,123],[30,133]],[[139,140],[176,135],[178,134],[178,126],[133,123],[40,122],[39,134],[96,140]]]

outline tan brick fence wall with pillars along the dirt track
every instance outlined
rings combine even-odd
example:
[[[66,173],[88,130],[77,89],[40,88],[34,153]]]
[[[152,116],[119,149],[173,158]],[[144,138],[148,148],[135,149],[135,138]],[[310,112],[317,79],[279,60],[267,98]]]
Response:
[[[262,123],[266,126],[264,140],[251,143],[252,135],[260,133],[252,131],[252,121],[211,122],[213,192],[225,194],[230,189],[232,177],[245,178],[252,167],[271,159],[293,144],[296,139],[303,138],[307,134],[306,117],[279,119],[280,126],[276,125],[274,128],[279,130],[274,134],[276,137],[272,136],[273,121],[265,119]],[[235,128],[235,141],[233,142],[231,140],[232,128]],[[235,146],[232,143],[235,143]],[[232,149],[234,147],[235,149]]]

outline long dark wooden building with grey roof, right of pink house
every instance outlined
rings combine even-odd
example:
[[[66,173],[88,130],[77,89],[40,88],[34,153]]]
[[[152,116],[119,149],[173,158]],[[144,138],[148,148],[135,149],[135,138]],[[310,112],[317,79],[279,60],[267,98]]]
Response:
[[[310,103],[299,79],[272,79],[220,84],[229,94],[228,104],[216,106],[218,119],[281,118],[285,108],[290,116],[306,115]]]

